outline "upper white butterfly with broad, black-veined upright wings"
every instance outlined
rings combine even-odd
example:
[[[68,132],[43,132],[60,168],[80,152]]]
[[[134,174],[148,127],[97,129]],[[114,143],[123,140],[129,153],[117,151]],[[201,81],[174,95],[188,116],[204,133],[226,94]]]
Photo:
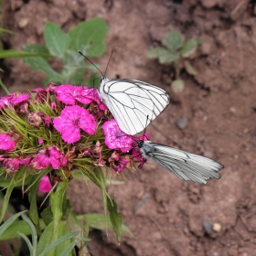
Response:
[[[120,129],[127,134],[140,133],[170,103],[168,93],[140,80],[101,81],[101,99]]]

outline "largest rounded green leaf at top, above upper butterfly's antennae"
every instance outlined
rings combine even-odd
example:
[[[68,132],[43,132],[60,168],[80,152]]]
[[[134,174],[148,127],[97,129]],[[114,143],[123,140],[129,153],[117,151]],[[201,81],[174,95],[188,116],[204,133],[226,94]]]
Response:
[[[106,50],[103,41],[107,31],[107,24],[101,18],[95,17],[81,22],[77,27],[69,30],[71,46],[88,57],[101,57]]]

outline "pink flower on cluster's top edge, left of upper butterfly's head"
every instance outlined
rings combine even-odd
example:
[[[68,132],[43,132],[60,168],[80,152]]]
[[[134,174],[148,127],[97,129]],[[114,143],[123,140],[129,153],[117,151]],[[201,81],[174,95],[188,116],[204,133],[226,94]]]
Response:
[[[91,99],[84,97],[81,92],[84,90],[81,86],[74,86],[69,84],[60,85],[55,89],[57,99],[65,104],[75,105],[76,101],[83,104],[91,103]]]

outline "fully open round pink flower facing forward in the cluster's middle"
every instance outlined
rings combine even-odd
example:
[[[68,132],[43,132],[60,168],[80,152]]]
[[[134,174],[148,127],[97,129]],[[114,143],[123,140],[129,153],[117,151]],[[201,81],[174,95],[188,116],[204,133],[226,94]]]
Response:
[[[96,131],[97,123],[93,115],[80,106],[69,106],[53,120],[54,128],[61,133],[64,142],[68,144],[80,140],[80,129],[92,135]]]

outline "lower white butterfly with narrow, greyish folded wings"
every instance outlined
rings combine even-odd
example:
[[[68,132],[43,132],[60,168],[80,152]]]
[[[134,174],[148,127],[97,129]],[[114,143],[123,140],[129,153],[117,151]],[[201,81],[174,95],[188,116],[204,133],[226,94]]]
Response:
[[[137,145],[144,158],[153,160],[184,180],[207,184],[209,178],[220,178],[218,171],[224,167],[208,157],[164,144],[140,140]]]

